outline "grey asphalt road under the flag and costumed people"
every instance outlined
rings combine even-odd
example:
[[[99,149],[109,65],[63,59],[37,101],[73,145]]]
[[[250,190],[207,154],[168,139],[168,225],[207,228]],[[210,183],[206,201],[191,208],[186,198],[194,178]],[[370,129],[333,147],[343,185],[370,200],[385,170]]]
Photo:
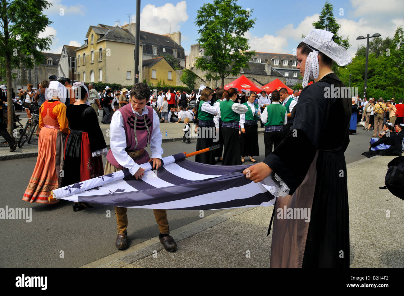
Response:
[[[358,126],[358,134],[351,136],[345,152],[347,163],[364,158],[361,153],[367,150],[370,136],[371,131]],[[195,140],[190,145],[180,141],[163,143],[163,156],[179,151],[191,152],[195,147]],[[259,134],[259,149],[261,153],[265,151],[262,134]],[[263,158],[263,154],[255,157],[257,161]],[[30,223],[0,220],[0,267],[80,267],[119,252],[114,246],[116,221],[113,207],[94,205],[93,209],[73,212],[72,202],[64,200],[55,205],[29,204],[22,200],[35,164],[36,157],[0,162],[0,208],[32,208]],[[111,211],[110,218],[107,210]],[[216,211],[205,211],[204,216],[213,212]],[[170,229],[198,220],[199,215],[199,211],[168,210]],[[129,209],[128,221],[131,245],[158,235],[152,210]],[[61,258],[61,251],[64,258]]]

